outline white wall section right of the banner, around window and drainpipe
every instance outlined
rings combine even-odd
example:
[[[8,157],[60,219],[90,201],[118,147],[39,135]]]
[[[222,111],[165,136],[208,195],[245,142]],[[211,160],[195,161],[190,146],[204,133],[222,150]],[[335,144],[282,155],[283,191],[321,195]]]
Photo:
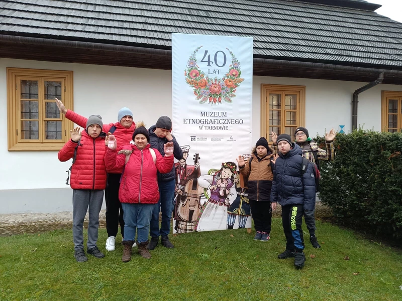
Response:
[[[374,80],[374,79],[373,79]],[[352,95],[363,82],[264,77],[253,78],[253,140],[259,138],[261,84],[306,86],[306,127],[311,136],[324,135],[325,129],[345,132],[352,128]],[[377,85],[359,95],[358,125],[381,130],[381,91],[402,91],[402,85]]]

